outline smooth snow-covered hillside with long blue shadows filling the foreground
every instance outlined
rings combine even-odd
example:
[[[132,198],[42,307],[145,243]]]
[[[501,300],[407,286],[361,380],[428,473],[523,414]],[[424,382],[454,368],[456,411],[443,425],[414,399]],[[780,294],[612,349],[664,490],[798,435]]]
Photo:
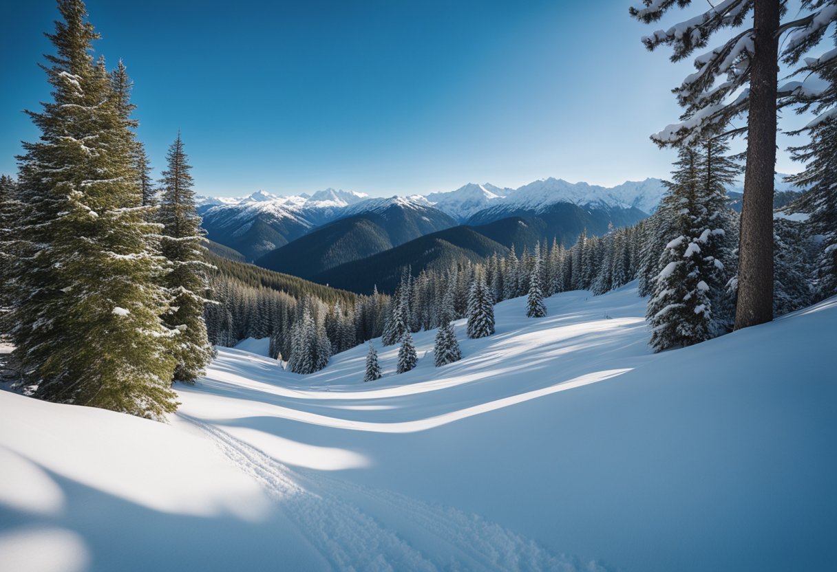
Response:
[[[837,299],[656,355],[634,284],[547,308],[367,384],[220,348],[170,425],[0,391],[0,569],[829,569]]]

